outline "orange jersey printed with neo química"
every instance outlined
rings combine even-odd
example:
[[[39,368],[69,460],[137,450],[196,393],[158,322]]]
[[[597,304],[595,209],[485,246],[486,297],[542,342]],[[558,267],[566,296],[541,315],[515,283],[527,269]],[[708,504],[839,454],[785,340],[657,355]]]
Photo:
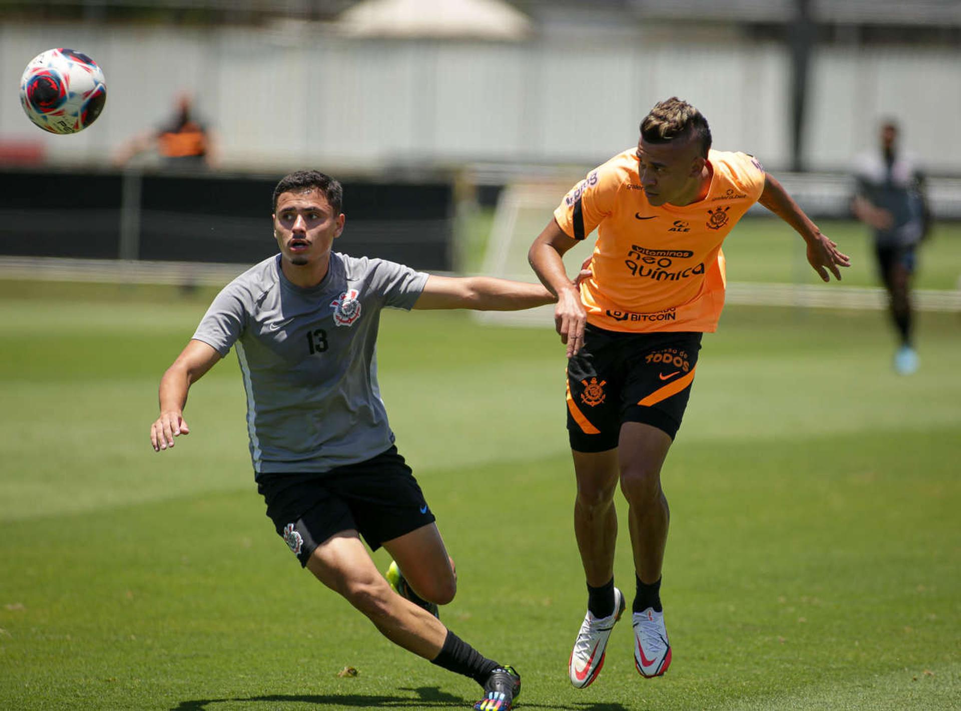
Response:
[[[554,219],[583,239],[598,230],[594,276],[580,284],[587,322],[608,331],[715,331],[724,307],[721,243],[764,189],[744,153],[710,151],[707,197],[678,208],[648,203],[630,148],[564,196]]]

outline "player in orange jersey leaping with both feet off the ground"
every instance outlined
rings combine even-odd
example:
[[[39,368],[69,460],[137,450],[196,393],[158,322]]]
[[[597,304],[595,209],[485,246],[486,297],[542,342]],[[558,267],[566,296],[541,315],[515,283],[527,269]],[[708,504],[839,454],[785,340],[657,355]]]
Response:
[[[850,259],[822,234],[760,162],[711,150],[701,112],[677,97],[644,118],[636,148],[591,171],[554,210],[530,265],[557,295],[554,322],[568,356],[568,432],[578,494],[574,528],[587,578],[587,614],[568,664],[589,685],[627,604],[614,587],[614,492],[628,500],[636,573],[634,662],[644,676],[671,663],[660,602],[669,510],[660,470],[678,431],[704,331],[725,297],[721,243],[755,202],[794,228],[821,278]],[[561,257],[598,230],[579,290]]]

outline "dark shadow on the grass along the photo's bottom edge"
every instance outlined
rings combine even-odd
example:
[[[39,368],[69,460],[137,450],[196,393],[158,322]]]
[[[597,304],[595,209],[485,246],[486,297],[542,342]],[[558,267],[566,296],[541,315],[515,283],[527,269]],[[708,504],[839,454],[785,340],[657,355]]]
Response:
[[[416,689],[401,689],[411,691],[418,699],[399,699],[397,697],[368,696],[362,694],[270,694],[262,697],[248,697],[246,699],[196,699],[181,701],[171,711],[210,711],[218,703],[250,702],[250,703],[315,703],[318,706],[341,706],[347,708],[470,708],[473,701],[460,699],[453,694],[440,691],[435,686],[421,686]],[[550,706],[540,703],[519,701],[518,705],[530,709],[557,709],[559,711],[629,711],[627,706],[620,703],[587,703],[576,702],[573,706]]]

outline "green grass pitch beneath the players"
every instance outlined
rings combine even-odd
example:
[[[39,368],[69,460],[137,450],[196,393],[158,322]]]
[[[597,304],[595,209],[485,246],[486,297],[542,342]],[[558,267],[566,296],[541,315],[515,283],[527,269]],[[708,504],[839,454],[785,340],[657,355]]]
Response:
[[[468,707],[472,681],[391,646],[274,533],[233,355],[193,389],[189,437],[150,449],[208,300],[0,282],[0,708]],[[918,335],[898,378],[879,311],[728,307],[663,477],[674,663],[640,678],[622,622],[578,691],[553,331],[385,313],[383,396],[457,561],[442,619],[519,669],[522,709],[958,708],[961,319]]]

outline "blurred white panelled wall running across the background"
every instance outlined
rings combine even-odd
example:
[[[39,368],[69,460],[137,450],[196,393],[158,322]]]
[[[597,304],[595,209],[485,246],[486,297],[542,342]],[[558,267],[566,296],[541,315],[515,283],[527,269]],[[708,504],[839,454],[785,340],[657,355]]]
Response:
[[[107,77],[107,107],[80,135],[37,130],[12,89],[27,61],[53,46],[86,52]],[[959,59],[947,50],[823,50],[811,72],[807,166],[845,169],[874,143],[877,117],[892,114],[931,171],[961,173],[951,128]],[[736,39],[513,45],[347,40],[293,23],[217,32],[5,25],[0,140],[41,141],[52,162],[103,162],[190,89],[227,167],[594,164],[632,145],[644,113],[677,94],[707,116],[718,148],[777,169],[790,159],[789,70],[780,45]]]

